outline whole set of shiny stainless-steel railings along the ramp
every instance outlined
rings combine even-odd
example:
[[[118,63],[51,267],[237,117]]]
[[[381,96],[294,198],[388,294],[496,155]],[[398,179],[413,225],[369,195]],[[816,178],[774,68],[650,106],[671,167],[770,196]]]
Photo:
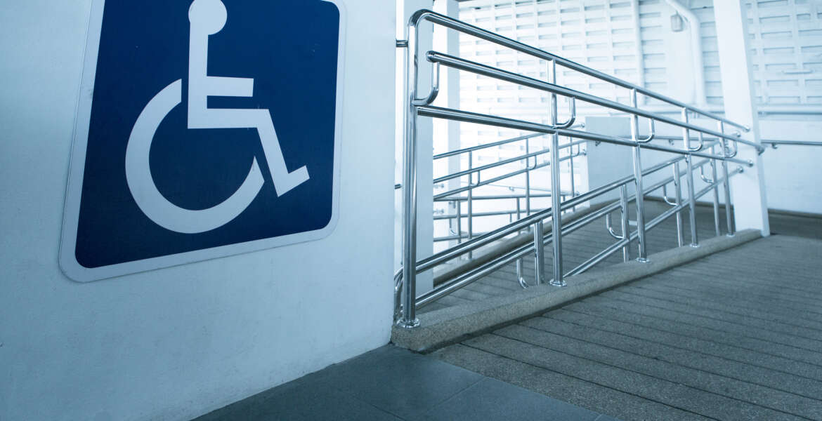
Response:
[[[495,43],[501,47],[513,49],[520,53],[528,54],[532,57],[547,61],[548,77],[547,80],[538,80],[528,76],[522,76],[510,71],[498,69],[496,67],[487,66],[478,62],[471,62],[464,58],[454,57],[445,53],[436,51],[419,50],[418,43],[418,26],[423,22],[429,22],[433,25],[441,25],[449,30],[455,30],[462,34],[467,34],[478,39],[483,39],[490,43]],[[416,327],[419,322],[416,318],[416,309],[429,304],[434,300],[441,298],[459,288],[469,285],[480,277],[484,277],[490,272],[502,268],[506,264],[517,263],[517,281],[523,287],[528,287],[527,282],[522,277],[522,259],[525,256],[532,255],[535,259],[535,283],[540,284],[546,281],[546,273],[544,268],[544,248],[546,245],[552,245],[553,253],[553,277],[547,282],[553,286],[565,286],[564,278],[584,272],[588,268],[593,267],[608,256],[622,250],[623,259],[628,261],[631,257],[630,244],[637,241],[638,253],[636,260],[640,262],[648,261],[648,250],[646,248],[646,232],[657,227],[660,223],[667,220],[668,217],[676,216],[677,218],[677,241],[679,245],[683,245],[683,223],[681,221],[681,212],[685,208],[689,208],[690,216],[690,245],[699,246],[699,237],[696,231],[695,221],[695,205],[696,200],[705,194],[713,192],[713,214],[716,226],[716,232],[719,235],[720,230],[720,212],[719,212],[719,187],[723,186],[725,213],[727,218],[728,234],[732,235],[732,217],[731,217],[731,195],[728,180],[731,176],[743,171],[743,166],[752,166],[753,162],[745,161],[736,158],[739,144],[746,144],[757,149],[760,153],[764,151],[763,146],[740,139],[740,133],[729,134],[726,132],[726,126],[734,126],[740,130],[749,130],[746,126],[742,126],[733,121],[728,121],[723,117],[718,117],[710,112],[705,112],[699,108],[694,108],[686,103],[681,103],[675,99],[667,98],[661,94],[655,93],[640,86],[630,84],[625,80],[617,79],[599,71],[595,71],[587,66],[571,62],[565,58],[558,57],[552,53],[547,53],[538,48],[533,48],[527,44],[520,43],[513,39],[508,39],[498,34],[494,34],[487,30],[480,29],[476,26],[466,24],[462,21],[455,20],[448,16],[443,16],[433,11],[417,11],[410,19],[406,32],[406,40],[398,41],[397,46],[406,48],[406,66],[405,66],[405,98],[404,98],[404,177],[401,184],[403,191],[403,241],[402,241],[402,269],[395,275],[395,321],[401,327]],[[432,84],[427,93],[423,96],[418,95],[418,71],[420,58],[425,58],[432,66]],[[436,100],[439,92],[439,76],[441,66],[457,69],[458,71],[467,71],[478,76],[487,76],[496,80],[503,80],[506,82],[520,85],[529,89],[537,89],[546,92],[550,95],[549,109],[547,110],[550,117],[548,124],[536,123],[531,121],[523,121],[512,119],[508,117],[499,117],[489,114],[481,114],[477,112],[468,112],[454,108],[441,108],[432,106]],[[577,91],[575,89],[568,89],[557,84],[556,66],[562,66],[571,71],[578,71],[584,75],[593,78],[604,80],[622,88],[630,90],[630,105],[617,103],[605,98],[599,98],[590,94]],[[638,107],[638,95],[655,98],[663,103],[670,104],[681,109],[681,120],[667,117],[662,114],[648,112]],[[558,117],[558,97],[568,98],[569,100],[569,114],[570,117],[566,121],[559,121]],[[625,139],[612,135],[602,135],[588,131],[575,130],[574,125],[576,115],[576,101],[583,101],[585,103],[594,104],[603,108],[609,108],[617,112],[626,113],[630,117],[630,139]],[[707,129],[701,126],[696,126],[689,121],[689,114],[697,114],[709,120],[715,121],[716,130]],[[463,217],[461,211],[461,204],[463,201],[467,204],[467,221],[468,236],[467,240],[463,241],[461,227],[458,227],[458,232],[455,237],[447,237],[446,240],[458,240],[459,243],[441,250],[432,256],[417,260],[417,120],[419,117],[433,117],[441,118],[451,121],[464,121],[470,123],[478,123],[488,126],[496,126],[502,128],[509,128],[514,130],[521,130],[531,132],[533,134],[519,136],[509,140],[501,140],[488,144],[481,144],[471,148],[458,149],[447,153],[440,153],[434,155],[433,159],[450,158],[458,155],[468,154],[469,167],[466,170],[454,172],[446,176],[437,177],[434,182],[440,183],[445,181],[462,179],[469,177],[467,185],[460,185],[455,189],[446,192],[435,194],[435,201],[456,201],[457,205],[457,224],[460,225]],[[640,137],[640,117],[648,119],[649,135]],[[680,138],[656,136],[656,123],[664,123],[670,126],[681,128],[682,136]],[[696,135],[691,138],[691,133]],[[528,142],[537,136],[548,135],[550,137],[550,146],[547,149],[538,151],[531,151],[526,147],[525,153],[513,158],[506,158],[499,162],[487,164],[480,167],[473,167],[473,152],[479,149],[500,146],[502,144],[509,144],[513,142]],[[566,144],[560,144],[560,138],[565,137],[570,140]],[[653,140],[681,140],[682,147],[677,148],[672,144],[664,145],[652,143]],[[692,140],[698,142],[693,144]],[[632,175],[624,176],[616,181],[607,183],[593,190],[582,194],[575,194],[574,186],[571,186],[569,194],[563,194],[560,182],[560,162],[570,160],[573,165],[573,158],[579,156],[582,152],[580,144],[593,141],[596,143],[617,144],[630,147],[633,150],[633,168]],[[573,147],[577,146],[577,154],[573,152]],[[732,146],[732,147],[731,147]],[[561,149],[570,149],[566,157],[560,156]],[[643,168],[641,163],[641,151],[655,150],[665,153],[674,153],[677,158],[669,159],[665,162],[660,162],[652,167]],[[537,157],[541,155],[548,155],[547,161],[537,164]],[[695,158],[703,158],[699,162],[694,162]],[[532,164],[533,159],[533,164]],[[524,168],[519,168],[512,172],[507,172],[499,176],[492,176],[487,180],[481,180],[480,174],[492,168],[501,167],[504,165],[514,164],[515,162],[524,162]],[[686,166],[684,171],[681,171],[680,164]],[[728,168],[730,163],[741,164],[733,170]],[[721,166],[721,168],[720,168]],[[483,234],[473,233],[471,227],[474,200],[485,199],[481,196],[474,197],[473,190],[483,186],[491,185],[492,183],[505,180],[512,176],[525,175],[526,184],[529,183],[529,174],[538,167],[549,167],[551,171],[551,190],[548,194],[543,194],[543,197],[551,199],[551,206],[549,208],[531,209],[530,186],[526,189],[523,198],[525,200],[525,212],[516,212],[517,219],[508,223],[503,227],[496,228],[492,231]],[[709,168],[709,175],[706,175],[705,168]],[[646,187],[644,185],[644,177],[649,174],[659,172],[665,168],[672,168],[673,175],[667,177],[663,181],[654,183]],[[720,173],[721,169],[721,173]],[[699,191],[695,187],[695,171],[700,170],[700,179],[704,181],[707,186]],[[573,170],[571,170],[571,181],[573,182]],[[680,181],[682,178],[686,180],[687,199],[683,200],[681,197]],[[667,197],[667,185],[673,183],[676,192],[675,198],[669,199]],[[628,186],[635,186],[634,197],[628,197]],[[399,186],[399,185],[398,185]],[[663,190],[663,198],[671,205],[667,211],[654,217],[651,221],[645,221],[644,196],[656,190]],[[603,194],[618,191],[620,199],[612,204],[607,204],[602,208],[579,217],[572,222],[565,225],[562,224],[562,213],[572,208],[580,206],[591,199],[596,199]],[[466,196],[457,194],[467,194]],[[554,194],[557,193],[557,194]],[[567,199],[570,196],[570,199]],[[510,199],[510,198],[508,198]],[[520,198],[516,199],[518,208]],[[636,229],[630,231],[630,221],[628,220],[628,206],[630,203],[635,203],[636,208]],[[519,209],[518,209],[519,210]],[[611,213],[619,211],[621,213],[620,226],[621,231],[617,232],[612,227],[610,218]],[[442,218],[454,217],[453,215],[444,215]],[[562,245],[561,240],[563,236],[570,234],[573,231],[584,227],[594,220],[606,217],[607,231],[617,239],[617,242],[606,249],[603,249],[591,259],[565,272],[562,268]],[[550,219],[551,231],[546,231],[543,223]],[[533,233],[533,242],[521,245],[506,254],[496,257],[483,263],[476,268],[470,269],[459,276],[450,279],[426,294],[416,295],[416,277],[419,273],[432,270],[437,266],[450,261],[451,259],[459,258],[463,255],[472,254],[477,249],[492,243],[502,240],[507,236],[517,234],[523,231]]]

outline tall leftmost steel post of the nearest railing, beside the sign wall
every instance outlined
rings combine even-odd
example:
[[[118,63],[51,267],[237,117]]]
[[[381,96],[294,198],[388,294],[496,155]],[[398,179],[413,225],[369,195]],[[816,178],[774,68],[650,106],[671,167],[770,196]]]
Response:
[[[405,49],[405,115],[403,165],[403,315],[400,327],[418,327],[417,299],[417,26],[408,27]]]

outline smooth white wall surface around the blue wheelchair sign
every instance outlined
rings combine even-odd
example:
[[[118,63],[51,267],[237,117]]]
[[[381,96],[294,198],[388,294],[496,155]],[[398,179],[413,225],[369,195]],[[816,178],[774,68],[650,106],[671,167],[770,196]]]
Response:
[[[335,232],[88,284],[58,243],[90,0],[4,5],[0,419],[190,419],[389,341],[395,16],[346,3]]]

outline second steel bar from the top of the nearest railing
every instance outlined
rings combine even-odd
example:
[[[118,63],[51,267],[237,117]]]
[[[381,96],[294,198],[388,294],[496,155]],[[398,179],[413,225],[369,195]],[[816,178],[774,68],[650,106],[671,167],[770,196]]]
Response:
[[[700,126],[695,126],[685,121],[679,121],[671,117],[665,117],[661,114],[647,112],[640,108],[630,107],[622,103],[617,103],[616,101],[600,98],[596,95],[585,94],[584,92],[580,92],[575,89],[570,89],[564,86],[544,82],[543,80],[537,80],[528,76],[518,75],[510,71],[504,71],[477,62],[471,62],[469,60],[465,60],[464,58],[454,57],[448,54],[437,53],[434,51],[428,52],[427,57],[428,61],[430,62],[441,63],[444,66],[449,66],[462,71],[470,71],[477,75],[488,76],[498,80],[505,80],[507,82],[515,83],[517,85],[528,86],[529,88],[551,92],[552,94],[559,94],[568,98],[576,98],[586,103],[593,103],[595,105],[599,105],[602,107],[616,109],[621,112],[627,112],[629,114],[635,114],[641,117],[649,118],[651,120],[661,121],[672,126],[678,126],[686,128],[688,130],[700,131],[703,133],[707,133],[709,135],[716,136],[718,138],[723,138],[735,142],[738,141],[741,144],[748,144],[750,146],[754,146],[756,149],[762,149],[762,146],[760,144],[755,144],[754,142],[749,142],[747,140],[741,140],[735,136],[724,135],[723,133],[720,133],[718,131],[705,129]]]

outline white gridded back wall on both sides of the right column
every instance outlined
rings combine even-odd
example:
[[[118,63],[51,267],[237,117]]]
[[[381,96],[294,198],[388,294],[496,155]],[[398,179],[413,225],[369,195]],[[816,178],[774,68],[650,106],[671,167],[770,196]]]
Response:
[[[700,19],[708,103],[722,104],[712,0],[682,1]],[[668,23],[674,11],[663,0],[469,0],[459,19],[535,45],[599,71],[670,94]],[[760,105],[822,104],[822,0],[749,2],[750,48]],[[639,27],[640,30],[635,29]],[[469,37],[460,55],[485,64],[545,78],[546,63]],[[566,71],[559,81],[605,98],[627,101],[625,89]],[[545,121],[547,95],[464,75],[464,108]],[[673,81],[676,83],[676,80]],[[513,108],[517,109],[514,111]]]

